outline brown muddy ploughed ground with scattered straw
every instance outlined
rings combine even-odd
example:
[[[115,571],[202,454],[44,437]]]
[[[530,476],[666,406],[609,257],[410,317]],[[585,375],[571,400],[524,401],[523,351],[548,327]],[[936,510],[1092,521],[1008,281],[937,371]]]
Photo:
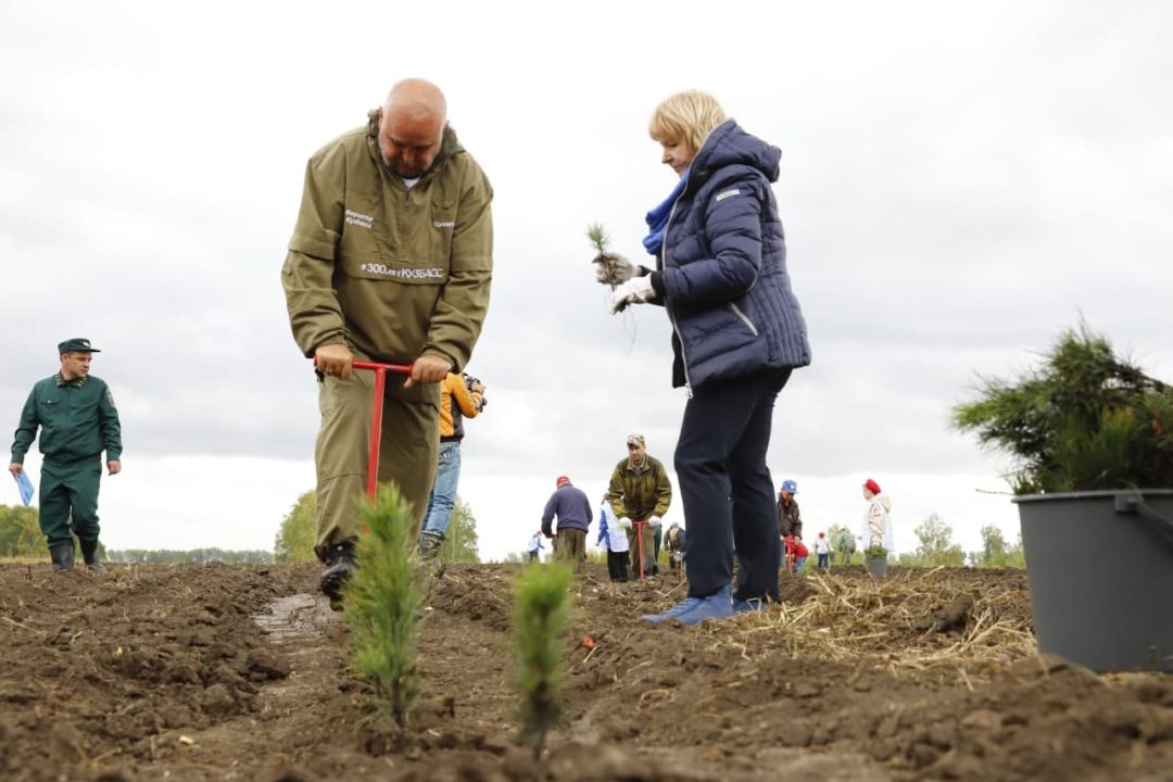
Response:
[[[569,721],[535,763],[515,572],[443,572],[396,749],[317,567],[0,566],[0,778],[1173,780],[1173,681],[1038,657],[1017,571],[787,576],[766,613],[657,628],[638,617],[674,577],[592,567],[570,646],[595,648],[568,648]]]

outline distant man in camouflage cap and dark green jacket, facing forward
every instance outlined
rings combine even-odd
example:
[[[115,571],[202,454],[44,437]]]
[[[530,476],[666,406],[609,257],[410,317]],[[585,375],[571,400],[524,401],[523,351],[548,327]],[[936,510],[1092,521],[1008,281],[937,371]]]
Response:
[[[631,551],[631,577],[643,578],[658,572],[655,560],[656,533],[660,519],[672,504],[672,483],[658,458],[647,455],[643,435],[628,435],[628,458],[621,460],[611,471],[609,487],[611,510],[619,526],[628,531]],[[632,529],[633,522],[636,529]],[[643,538],[644,560],[640,567],[639,550]]]

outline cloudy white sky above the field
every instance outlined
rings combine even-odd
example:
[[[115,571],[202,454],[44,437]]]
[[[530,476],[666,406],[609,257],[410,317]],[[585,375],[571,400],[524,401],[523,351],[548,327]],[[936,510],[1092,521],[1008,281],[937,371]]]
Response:
[[[1134,2],[19,2],[0,0],[0,420],[88,336],[123,421],[106,544],[272,546],[313,487],[316,383],[279,268],[305,159],[423,76],[496,189],[461,495],[487,558],[554,478],[602,494],[624,435],[671,468],[684,394],[662,310],[611,317],[583,236],[640,259],[673,184],[653,106],[712,91],[782,149],[775,185],[814,363],[774,416],[808,529],[894,501],[967,550],[1017,537],[948,428],[975,375],[1080,313],[1173,379],[1173,11]],[[30,457],[34,482],[39,460]],[[15,504],[15,484],[0,503]],[[682,521],[679,504],[669,521]]]

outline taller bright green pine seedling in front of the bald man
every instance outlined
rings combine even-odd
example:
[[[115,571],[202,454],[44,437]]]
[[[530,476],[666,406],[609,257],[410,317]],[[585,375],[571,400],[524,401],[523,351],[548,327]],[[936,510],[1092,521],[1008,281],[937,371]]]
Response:
[[[359,538],[358,569],[344,593],[343,616],[351,630],[354,667],[402,739],[419,694],[415,658],[422,601],[409,557],[409,505],[396,487],[384,485],[373,502],[361,502],[359,517],[369,532]]]

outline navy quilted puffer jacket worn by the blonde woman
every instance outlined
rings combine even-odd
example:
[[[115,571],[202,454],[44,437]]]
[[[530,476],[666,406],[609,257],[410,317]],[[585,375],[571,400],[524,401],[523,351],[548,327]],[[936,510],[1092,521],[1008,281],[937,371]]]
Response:
[[[672,319],[674,387],[811,363],[769,188],[780,158],[728,120],[692,161],[652,273]]]

